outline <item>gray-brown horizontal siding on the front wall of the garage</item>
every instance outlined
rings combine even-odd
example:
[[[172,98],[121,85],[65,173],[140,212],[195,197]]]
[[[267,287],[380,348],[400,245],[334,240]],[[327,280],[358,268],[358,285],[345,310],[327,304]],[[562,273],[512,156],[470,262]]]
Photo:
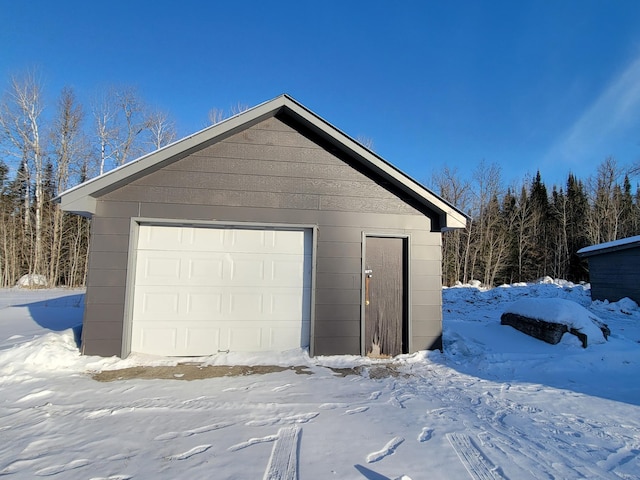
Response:
[[[132,217],[317,225],[314,353],[360,354],[362,236],[408,236],[411,351],[441,336],[440,234],[383,182],[276,117],[98,198],[85,353],[119,355]]]

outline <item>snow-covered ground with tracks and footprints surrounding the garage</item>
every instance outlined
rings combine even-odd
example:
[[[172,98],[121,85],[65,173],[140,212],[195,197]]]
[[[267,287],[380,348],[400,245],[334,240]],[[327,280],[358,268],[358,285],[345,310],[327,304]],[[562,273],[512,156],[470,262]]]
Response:
[[[443,297],[444,354],[229,354],[207,362],[311,374],[101,383],[91,372],[174,360],[81,356],[71,327],[82,291],[0,291],[0,476],[640,478],[635,303],[592,303],[566,282]],[[500,325],[523,297],[572,300],[611,336],[583,349],[572,335],[548,345]]]

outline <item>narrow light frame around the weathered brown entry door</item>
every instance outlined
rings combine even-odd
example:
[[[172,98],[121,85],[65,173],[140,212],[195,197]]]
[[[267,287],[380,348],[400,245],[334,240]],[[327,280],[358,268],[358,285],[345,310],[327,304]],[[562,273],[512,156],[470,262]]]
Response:
[[[365,278],[367,261],[367,237],[373,238],[399,238],[403,241],[403,267],[404,267],[404,293],[403,293],[403,319],[402,319],[402,344],[403,353],[412,351],[412,328],[411,328],[411,235],[408,233],[389,232],[362,232],[362,258],[360,271],[360,355],[365,356],[365,331],[366,331],[366,310],[365,310]],[[406,352],[404,352],[406,350]]]

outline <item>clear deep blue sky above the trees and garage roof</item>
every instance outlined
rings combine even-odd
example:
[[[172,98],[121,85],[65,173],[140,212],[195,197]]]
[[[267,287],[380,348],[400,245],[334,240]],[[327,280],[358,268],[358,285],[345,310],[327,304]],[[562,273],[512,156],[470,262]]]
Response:
[[[0,20],[0,82],[37,68],[51,111],[65,85],[87,108],[132,85],[184,136],[288,93],[425,183],[640,162],[636,0],[0,0]]]

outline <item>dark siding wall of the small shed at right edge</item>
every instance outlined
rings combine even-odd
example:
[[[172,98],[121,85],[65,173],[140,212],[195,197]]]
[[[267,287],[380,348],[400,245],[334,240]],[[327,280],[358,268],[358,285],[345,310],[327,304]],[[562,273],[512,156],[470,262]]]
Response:
[[[640,303],[640,247],[589,256],[589,280],[593,300]]]

